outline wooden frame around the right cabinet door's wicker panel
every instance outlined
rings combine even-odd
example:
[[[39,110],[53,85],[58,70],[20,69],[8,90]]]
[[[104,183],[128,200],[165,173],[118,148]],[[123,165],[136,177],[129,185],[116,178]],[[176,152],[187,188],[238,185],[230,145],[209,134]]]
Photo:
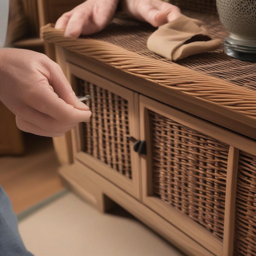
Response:
[[[146,141],[147,155],[141,157],[141,176],[142,176],[142,201],[145,205],[163,216],[177,228],[193,237],[195,241],[202,244],[206,249],[218,256],[232,255],[232,242],[234,233],[234,208],[236,195],[236,175],[238,166],[239,150],[250,154],[256,154],[256,144],[245,137],[229,132],[216,125],[200,120],[182,111],[176,110],[162,103],[140,95],[140,139]],[[187,215],[181,214],[174,207],[169,206],[161,199],[153,195],[152,189],[152,166],[151,166],[151,145],[150,145],[150,127],[148,110],[155,111],[167,118],[178,123],[188,126],[196,131],[216,138],[230,146],[228,167],[227,167],[227,184],[226,184],[226,207],[224,223],[224,240],[223,242],[213,236],[205,228],[191,220]]]

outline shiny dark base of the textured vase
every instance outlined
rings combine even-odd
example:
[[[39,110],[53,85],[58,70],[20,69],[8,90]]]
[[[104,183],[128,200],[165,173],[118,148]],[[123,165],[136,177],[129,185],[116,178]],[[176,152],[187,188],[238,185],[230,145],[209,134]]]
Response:
[[[233,58],[256,62],[256,44],[254,40],[240,41],[227,37],[224,41],[224,52]]]

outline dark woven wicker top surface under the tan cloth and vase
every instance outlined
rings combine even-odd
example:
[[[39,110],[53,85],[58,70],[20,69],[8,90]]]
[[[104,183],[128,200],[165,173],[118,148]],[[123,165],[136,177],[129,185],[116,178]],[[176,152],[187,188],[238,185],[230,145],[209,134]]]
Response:
[[[187,10],[184,10],[183,13],[189,17],[204,21],[205,27],[213,37],[223,40],[227,36],[227,32],[221,25],[218,16]],[[140,55],[170,62],[170,60],[158,56],[147,49],[147,38],[155,29],[147,23],[137,22],[134,19],[118,14],[103,31],[86,38],[110,42]],[[256,63],[233,59],[223,53],[223,47],[213,52],[190,56],[177,61],[177,63],[239,86],[256,90]]]

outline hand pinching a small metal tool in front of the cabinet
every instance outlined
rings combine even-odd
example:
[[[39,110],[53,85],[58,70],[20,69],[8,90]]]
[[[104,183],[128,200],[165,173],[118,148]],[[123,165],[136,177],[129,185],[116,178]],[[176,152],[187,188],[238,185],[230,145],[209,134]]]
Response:
[[[62,136],[91,116],[59,65],[29,50],[0,49],[0,100],[20,130],[42,136]]]

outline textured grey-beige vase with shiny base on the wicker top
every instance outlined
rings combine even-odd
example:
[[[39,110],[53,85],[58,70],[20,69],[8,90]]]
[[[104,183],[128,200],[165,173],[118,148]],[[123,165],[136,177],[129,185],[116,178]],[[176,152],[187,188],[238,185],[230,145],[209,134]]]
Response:
[[[230,35],[224,42],[227,55],[256,61],[256,0],[217,0],[221,23]]]

